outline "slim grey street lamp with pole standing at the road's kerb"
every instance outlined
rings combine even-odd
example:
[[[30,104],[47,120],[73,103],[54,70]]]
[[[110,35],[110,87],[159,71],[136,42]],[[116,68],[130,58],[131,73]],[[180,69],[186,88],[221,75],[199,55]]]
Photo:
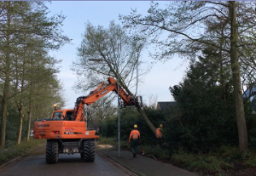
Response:
[[[90,61],[95,61],[95,62],[101,62],[104,60],[101,59],[88,59]],[[119,61],[118,61],[119,63]],[[119,67],[116,65],[116,70],[117,70],[117,84],[118,84],[118,142],[119,142],[119,157],[120,157],[120,117],[119,117]]]

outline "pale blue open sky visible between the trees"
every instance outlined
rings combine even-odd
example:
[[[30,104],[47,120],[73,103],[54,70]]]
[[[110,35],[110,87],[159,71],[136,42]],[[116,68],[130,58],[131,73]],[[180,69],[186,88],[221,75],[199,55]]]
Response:
[[[149,1],[52,1],[47,3],[50,14],[64,14],[67,16],[62,30],[64,35],[73,39],[72,44],[65,45],[58,52],[50,53],[56,59],[63,60],[60,65],[59,78],[62,87],[65,89],[64,94],[67,99],[64,108],[73,109],[75,100],[79,96],[87,94],[76,93],[73,90],[72,87],[77,78],[74,72],[70,70],[72,61],[78,58],[77,48],[82,41],[85,22],[90,21],[94,26],[108,27],[111,20],[120,23],[119,14],[130,14],[131,9],[137,9],[140,14],[146,14],[149,4]],[[143,52],[143,60],[152,61],[148,57],[147,50]],[[174,58],[165,64],[155,64],[151,71],[143,77],[143,85],[138,87],[138,95],[143,96],[144,103],[148,104],[150,96],[157,97],[157,101],[172,101],[169,87],[182,82],[186,69],[185,65],[178,58]]]

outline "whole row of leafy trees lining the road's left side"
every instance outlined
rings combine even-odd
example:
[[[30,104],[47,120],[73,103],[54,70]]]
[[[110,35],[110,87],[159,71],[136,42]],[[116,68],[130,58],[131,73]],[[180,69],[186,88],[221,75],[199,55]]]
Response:
[[[0,2],[0,97],[1,135],[4,148],[9,111],[19,119],[17,144],[20,144],[25,112],[30,123],[38,116],[49,114],[56,99],[61,101],[59,69],[49,51],[59,49],[70,39],[62,35],[65,16],[49,16],[45,2]],[[63,102],[63,101],[62,101]],[[14,106],[15,105],[15,106]],[[28,135],[27,135],[28,136]]]

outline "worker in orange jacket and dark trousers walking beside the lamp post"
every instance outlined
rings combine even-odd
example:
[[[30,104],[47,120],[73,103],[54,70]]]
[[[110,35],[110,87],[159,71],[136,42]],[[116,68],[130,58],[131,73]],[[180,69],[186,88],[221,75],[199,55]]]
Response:
[[[131,143],[131,151],[133,157],[136,157],[137,154],[137,145],[141,143],[141,134],[137,130],[137,125],[135,124],[133,129],[131,130],[130,137],[129,137],[129,144]]]

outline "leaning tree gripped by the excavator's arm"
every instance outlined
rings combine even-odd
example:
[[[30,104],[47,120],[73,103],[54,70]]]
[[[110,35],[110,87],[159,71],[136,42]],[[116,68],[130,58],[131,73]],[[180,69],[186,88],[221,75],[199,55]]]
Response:
[[[131,88],[137,85],[139,75],[136,75],[136,72],[140,69],[140,75],[145,73],[140,67],[142,60],[139,57],[144,45],[145,41],[138,35],[128,36],[121,26],[114,24],[114,21],[110,22],[108,28],[92,26],[88,22],[78,49],[79,60],[73,62],[73,71],[76,71],[79,78],[77,88],[86,91],[106,80],[107,77],[115,77],[127,94],[135,97],[136,94],[131,93]],[[102,60],[102,62],[92,63],[90,60]],[[137,110],[155,133],[154,125],[142,108],[137,107]]]

